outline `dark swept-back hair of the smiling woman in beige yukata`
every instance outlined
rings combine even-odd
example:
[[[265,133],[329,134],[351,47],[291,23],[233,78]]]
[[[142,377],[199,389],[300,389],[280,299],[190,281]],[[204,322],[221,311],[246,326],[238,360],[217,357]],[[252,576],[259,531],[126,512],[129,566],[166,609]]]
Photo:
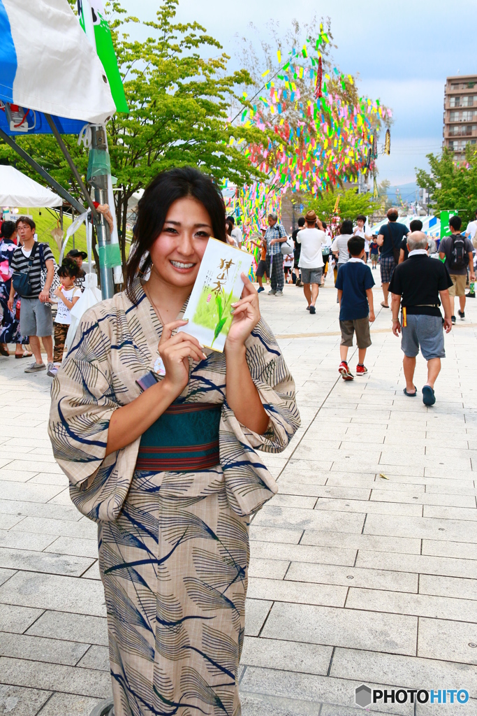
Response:
[[[132,284],[151,266],[149,248],[159,236],[170,206],[186,196],[197,199],[210,216],[214,238],[226,242],[225,204],[220,188],[193,167],[162,172],[147,186],[139,200],[134,239],[126,268],[126,293],[132,299]]]

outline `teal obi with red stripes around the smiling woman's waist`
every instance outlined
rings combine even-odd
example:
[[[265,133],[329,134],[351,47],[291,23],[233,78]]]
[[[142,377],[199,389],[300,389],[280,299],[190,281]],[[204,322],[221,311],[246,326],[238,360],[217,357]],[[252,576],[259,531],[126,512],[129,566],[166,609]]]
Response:
[[[196,472],[220,462],[222,405],[172,403],[141,437],[136,470]]]

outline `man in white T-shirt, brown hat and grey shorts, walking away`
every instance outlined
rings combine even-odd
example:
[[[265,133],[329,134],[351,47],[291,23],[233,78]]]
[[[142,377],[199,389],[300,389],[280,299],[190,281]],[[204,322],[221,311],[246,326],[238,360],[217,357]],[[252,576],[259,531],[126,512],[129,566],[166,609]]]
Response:
[[[317,223],[319,228],[316,228]],[[315,314],[315,304],[320,290],[321,275],[323,274],[321,245],[326,243],[326,234],[313,209],[310,209],[305,214],[305,228],[298,231],[297,243],[301,244],[298,266],[302,274],[307,311],[310,311],[310,314]]]

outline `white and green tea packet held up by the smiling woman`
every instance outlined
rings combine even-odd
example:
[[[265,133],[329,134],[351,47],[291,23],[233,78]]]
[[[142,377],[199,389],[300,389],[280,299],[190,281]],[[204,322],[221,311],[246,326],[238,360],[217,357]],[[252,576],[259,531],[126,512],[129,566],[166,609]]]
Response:
[[[252,255],[210,238],[185,310],[184,331],[205,347],[222,352],[232,323],[230,306],[242,296],[243,281],[252,266]]]

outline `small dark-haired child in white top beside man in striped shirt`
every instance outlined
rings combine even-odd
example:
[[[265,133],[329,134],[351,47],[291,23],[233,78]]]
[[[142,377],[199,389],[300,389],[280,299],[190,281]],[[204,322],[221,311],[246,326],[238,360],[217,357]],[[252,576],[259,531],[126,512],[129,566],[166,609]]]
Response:
[[[72,258],[66,258],[58,269],[61,286],[54,292],[54,295],[58,298],[58,310],[54,319],[54,367],[51,369],[51,374],[53,375],[56,375],[62,364],[64,342],[67,339],[68,329],[72,322],[71,310],[82,294],[81,289],[76,285],[76,279],[81,270],[77,262]]]

